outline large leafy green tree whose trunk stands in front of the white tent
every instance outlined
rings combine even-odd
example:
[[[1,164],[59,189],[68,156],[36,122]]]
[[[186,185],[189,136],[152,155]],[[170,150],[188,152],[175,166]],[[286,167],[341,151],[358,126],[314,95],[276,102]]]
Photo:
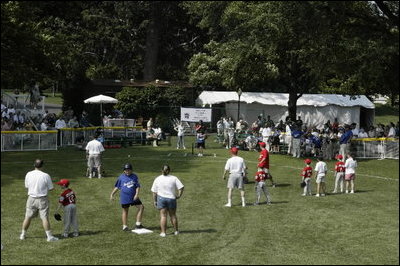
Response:
[[[378,25],[381,20],[368,2],[202,3],[186,5],[212,39],[205,52],[192,57],[189,72],[195,84],[288,92],[289,115],[295,119],[297,99],[304,93],[327,88],[366,93],[367,85],[377,88],[377,78],[364,78],[368,72],[381,80],[387,75],[383,68],[368,66],[368,58],[380,60],[371,51],[387,35],[382,28],[366,27],[368,20]],[[381,51],[398,47],[398,30],[392,27],[391,32],[397,41],[391,38]],[[398,64],[398,49],[392,55]],[[384,62],[392,64],[390,75],[398,79],[395,60]]]

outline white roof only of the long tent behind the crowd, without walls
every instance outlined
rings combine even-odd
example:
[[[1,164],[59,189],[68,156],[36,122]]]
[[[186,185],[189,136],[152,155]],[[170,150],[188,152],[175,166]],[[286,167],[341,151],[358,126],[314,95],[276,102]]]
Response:
[[[224,102],[237,102],[238,95],[235,91],[203,91],[196,100],[198,105],[219,104]],[[265,105],[287,106],[288,93],[272,92],[243,92],[240,102],[260,103]],[[375,109],[375,105],[365,95],[359,95],[354,100],[349,95],[341,94],[303,94],[297,100],[297,106],[362,106]]]

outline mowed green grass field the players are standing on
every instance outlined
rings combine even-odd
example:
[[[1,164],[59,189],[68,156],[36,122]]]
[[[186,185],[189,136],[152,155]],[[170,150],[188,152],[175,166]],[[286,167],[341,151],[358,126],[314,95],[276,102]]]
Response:
[[[258,153],[240,151],[249,167],[245,208],[237,190],[233,207],[226,208],[223,168],[228,151],[207,140],[204,157],[190,150],[131,146],[106,150],[104,179],[88,179],[85,153],[73,147],[59,151],[6,152],[1,154],[1,264],[399,264],[399,162],[358,161],[356,193],[302,197],[300,171],[303,159],[270,156],[270,168],[278,186],[269,190],[272,205],[253,206],[253,174]],[[186,138],[187,146],[193,141]],[[188,153],[185,156],[185,153]],[[215,154],[215,157],[214,157]],[[128,157],[131,155],[131,157]],[[35,158],[45,160],[44,171],[54,181],[68,178],[77,193],[81,235],[48,243],[36,218],[27,239],[19,240],[25,214],[24,177]],[[154,231],[136,235],[121,231],[119,199],[109,196],[124,163],[133,164],[142,185],[145,205],[143,224]],[[185,185],[178,200],[181,234],[159,236],[159,213],[152,205],[150,188],[161,166],[171,166]],[[333,165],[328,162],[327,188],[333,189]],[[312,166],[315,166],[313,160]],[[313,193],[316,185],[313,180]],[[269,185],[269,183],[268,183]],[[53,218],[60,188],[50,193],[51,225],[60,237],[62,223]],[[136,210],[130,209],[129,226]]]

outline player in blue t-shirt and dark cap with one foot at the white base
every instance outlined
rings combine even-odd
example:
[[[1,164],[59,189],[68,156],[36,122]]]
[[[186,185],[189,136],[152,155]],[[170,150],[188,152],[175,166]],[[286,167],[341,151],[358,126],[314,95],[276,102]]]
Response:
[[[122,207],[122,230],[130,230],[127,225],[130,206],[136,206],[137,208],[135,229],[143,228],[142,216],[144,206],[139,199],[139,178],[136,174],[132,173],[132,165],[130,163],[124,165],[124,173],[118,177],[114,190],[111,192],[110,200],[114,200],[114,195],[118,190],[121,191],[120,202]]]

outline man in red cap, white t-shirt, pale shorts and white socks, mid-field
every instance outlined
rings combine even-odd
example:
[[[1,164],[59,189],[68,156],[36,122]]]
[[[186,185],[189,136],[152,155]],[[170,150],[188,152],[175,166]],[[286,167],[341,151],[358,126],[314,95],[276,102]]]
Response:
[[[240,190],[240,197],[242,199],[242,207],[246,206],[244,198],[244,184],[243,177],[245,176],[246,164],[242,157],[237,156],[239,149],[236,147],[231,148],[232,157],[228,159],[225,164],[225,171],[222,179],[225,180],[226,174],[229,173],[228,179],[228,203],[225,207],[232,207],[232,190],[238,188]]]

